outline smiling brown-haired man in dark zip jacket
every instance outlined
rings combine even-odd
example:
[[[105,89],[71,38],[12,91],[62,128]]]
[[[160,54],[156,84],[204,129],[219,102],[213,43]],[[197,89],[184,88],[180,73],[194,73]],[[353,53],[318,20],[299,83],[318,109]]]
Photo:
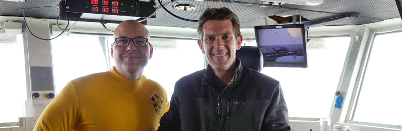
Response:
[[[205,10],[198,34],[209,64],[176,82],[158,130],[292,130],[279,82],[236,58],[243,41],[236,14]]]

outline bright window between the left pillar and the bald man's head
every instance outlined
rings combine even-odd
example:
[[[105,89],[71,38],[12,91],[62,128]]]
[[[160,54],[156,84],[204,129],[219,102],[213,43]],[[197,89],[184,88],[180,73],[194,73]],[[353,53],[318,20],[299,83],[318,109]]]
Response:
[[[73,79],[108,71],[99,36],[71,34],[52,40],[55,91]]]

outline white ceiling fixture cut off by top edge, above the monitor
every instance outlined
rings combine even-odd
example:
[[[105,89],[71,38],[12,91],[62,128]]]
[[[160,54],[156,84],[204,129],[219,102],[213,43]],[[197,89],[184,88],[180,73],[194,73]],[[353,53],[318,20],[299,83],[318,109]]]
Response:
[[[273,2],[273,4],[275,5],[295,4],[295,5],[316,6],[323,3],[323,0],[262,0],[262,1],[266,1],[264,3],[267,4]]]

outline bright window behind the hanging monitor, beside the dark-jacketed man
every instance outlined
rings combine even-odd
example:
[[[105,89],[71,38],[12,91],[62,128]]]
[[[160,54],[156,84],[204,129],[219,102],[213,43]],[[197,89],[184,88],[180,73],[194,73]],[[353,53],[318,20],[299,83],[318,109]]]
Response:
[[[262,69],[280,82],[289,117],[329,116],[349,44],[349,36],[311,38],[306,45],[307,68]]]

